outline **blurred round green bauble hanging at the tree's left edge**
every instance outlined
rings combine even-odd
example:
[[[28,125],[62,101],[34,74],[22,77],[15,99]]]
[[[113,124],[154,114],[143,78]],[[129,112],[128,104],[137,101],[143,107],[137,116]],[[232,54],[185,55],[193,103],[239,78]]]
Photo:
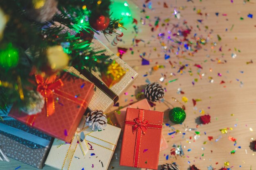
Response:
[[[3,68],[11,68],[17,66],[19,61],[19,51],[14,48],[11,43],[0,49],[0,66]]]

